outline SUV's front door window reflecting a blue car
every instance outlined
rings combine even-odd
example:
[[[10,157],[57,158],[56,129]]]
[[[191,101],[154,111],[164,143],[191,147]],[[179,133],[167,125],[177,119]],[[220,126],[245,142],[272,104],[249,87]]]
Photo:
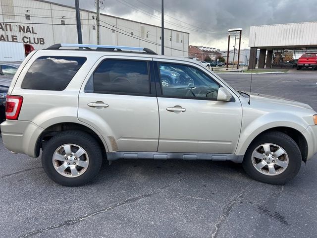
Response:
[[[159,71],[163,96],[217,99],[219,85],[195,67],[160,63]]]

